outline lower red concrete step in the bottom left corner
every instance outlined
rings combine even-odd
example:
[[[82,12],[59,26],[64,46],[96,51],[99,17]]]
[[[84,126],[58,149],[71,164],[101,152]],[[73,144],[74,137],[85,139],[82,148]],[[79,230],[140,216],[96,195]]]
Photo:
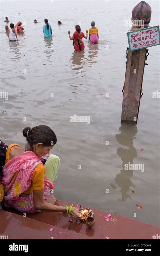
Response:
[[[1,239],[91,239],[37,220],[0,210]],[[53,230],[50,231],[50,228]]]

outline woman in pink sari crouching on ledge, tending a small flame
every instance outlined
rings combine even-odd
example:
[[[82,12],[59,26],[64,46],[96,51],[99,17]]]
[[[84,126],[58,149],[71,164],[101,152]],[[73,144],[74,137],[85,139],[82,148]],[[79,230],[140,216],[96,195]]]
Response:
[[[6,152],[6,164],[2,170],[4,205],[26,213],[63,212],[70,214],[72,219],[80,220],[78,209],[54,205],[56,198],[50,194],[60,163],[58,156],[49,154],[57,143],[53,130],[46,125],[32,129],[26,127],[23,136],[27,140],[25,148],[11,144]],[[45,160],[48,157],[44,165],[42,157]]]

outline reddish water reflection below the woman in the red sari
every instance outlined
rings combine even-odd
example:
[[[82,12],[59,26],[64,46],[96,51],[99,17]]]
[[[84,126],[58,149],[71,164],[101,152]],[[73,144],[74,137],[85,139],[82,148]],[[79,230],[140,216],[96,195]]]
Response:
[[[82,64],[85,63],[84,60],[85,51],[74,51],[71,57],[71,69],[78,70],[80,68],[83,68]],[[79,67],[76,67],[76,66]]]

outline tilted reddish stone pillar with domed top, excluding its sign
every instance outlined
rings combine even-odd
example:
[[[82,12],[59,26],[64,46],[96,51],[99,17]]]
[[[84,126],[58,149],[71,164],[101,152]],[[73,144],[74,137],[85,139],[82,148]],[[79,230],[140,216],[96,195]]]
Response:
[[[130,31],[146,28],[151,19],[151,7],[145,1],[137,4],[132,11],[132,28]],[[128,52],[127,52],[128,51]],[[145,60],[148,49],[129,51],[127,48],[125,83],[123,87],[123,102],[121,123],[136,124],[142,96],[142,83]]]

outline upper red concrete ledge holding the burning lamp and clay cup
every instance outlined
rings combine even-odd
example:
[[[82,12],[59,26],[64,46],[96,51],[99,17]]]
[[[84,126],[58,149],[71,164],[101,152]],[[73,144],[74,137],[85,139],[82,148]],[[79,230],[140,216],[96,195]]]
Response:
[[[72,205],[72,203],[58,201],[56,205],[64,206]],[[76,204],[74,206],[79,208]],[[5,209],[22,215],[22,213],[12,208]],[[80,225],[76,222],[69,222],[69,215],[63,213],[41,212],[26,214],[26,216],[30,219],[62,228],[63,230],[70,230],[74,234],[81,234],[94,239],[153,239],[153,236],[160,235],[160,228],[157,226],[94,208],[92,210],[94,211],[95,218],[95,226],[92,229],[88,229],[85,222],[82,221]],[[107,217],[108,214],[111,214],[112,217],[109,219],[109,222],[105,222],[104,217]]]

